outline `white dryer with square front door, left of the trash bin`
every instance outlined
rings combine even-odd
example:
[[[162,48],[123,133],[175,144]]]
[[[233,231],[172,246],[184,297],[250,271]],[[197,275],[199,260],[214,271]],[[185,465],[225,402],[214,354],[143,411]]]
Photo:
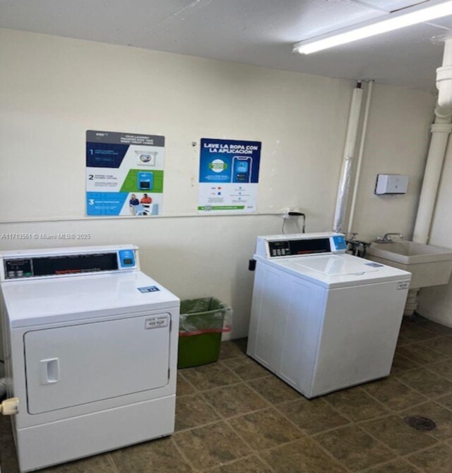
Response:
[[[20,472],[171,434],[180,303],[139,270],[138,248],[0,259]]]

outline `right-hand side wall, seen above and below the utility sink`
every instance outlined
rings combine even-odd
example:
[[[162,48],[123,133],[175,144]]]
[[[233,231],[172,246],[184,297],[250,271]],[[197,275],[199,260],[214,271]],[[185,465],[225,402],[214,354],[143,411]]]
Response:
[[[429,243],[452,248],[452,145],[449,139]],[[452,278],[448,285],[423,288],[417,312],[452,327]]]

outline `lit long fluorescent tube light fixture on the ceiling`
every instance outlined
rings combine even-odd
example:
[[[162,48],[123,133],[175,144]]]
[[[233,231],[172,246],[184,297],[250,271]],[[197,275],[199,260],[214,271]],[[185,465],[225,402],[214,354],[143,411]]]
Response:
[[[388,13],[388,15],[383,16],[383,18],[388,18],[387,20],[370,20],[341,30],[335,30],[326,35],[297,42],[294,44],[293,51],[299,54],[311,54],[340,44],[381,35],[381,33],[436,20],[436,18],[448,15],[452,15],[452,1],[443,1],[442,3],[429,1],[427,4],[404,8],[396,13]]]

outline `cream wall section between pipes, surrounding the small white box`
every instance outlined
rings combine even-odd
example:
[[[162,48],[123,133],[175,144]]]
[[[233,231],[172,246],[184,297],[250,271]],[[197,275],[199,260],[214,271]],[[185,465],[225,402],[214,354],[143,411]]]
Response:
[[[371,240],[388,232],[412,237],[433,108],[430,94],[402,87],[374,87],[352,226],[359,238]],[[408,175],[407,194],[375,195],[379,173]]]

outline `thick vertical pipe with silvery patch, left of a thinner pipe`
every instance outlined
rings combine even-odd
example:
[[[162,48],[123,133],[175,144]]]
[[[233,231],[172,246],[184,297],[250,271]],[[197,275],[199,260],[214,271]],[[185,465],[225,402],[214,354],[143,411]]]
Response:
[[[340,172],[338,197],[333,221],[333,231],[344,233],[345,218],[347,214],[348,200],[350,197],[350,184],[352,181],[352,164],[355,158],[355,149],[359,129],[359,116],[361,113],[363,90],[361,82],[352,93],[350,113],[348,116],[347,135],[345,136],[345,147],[343,154],[343,164]]]

